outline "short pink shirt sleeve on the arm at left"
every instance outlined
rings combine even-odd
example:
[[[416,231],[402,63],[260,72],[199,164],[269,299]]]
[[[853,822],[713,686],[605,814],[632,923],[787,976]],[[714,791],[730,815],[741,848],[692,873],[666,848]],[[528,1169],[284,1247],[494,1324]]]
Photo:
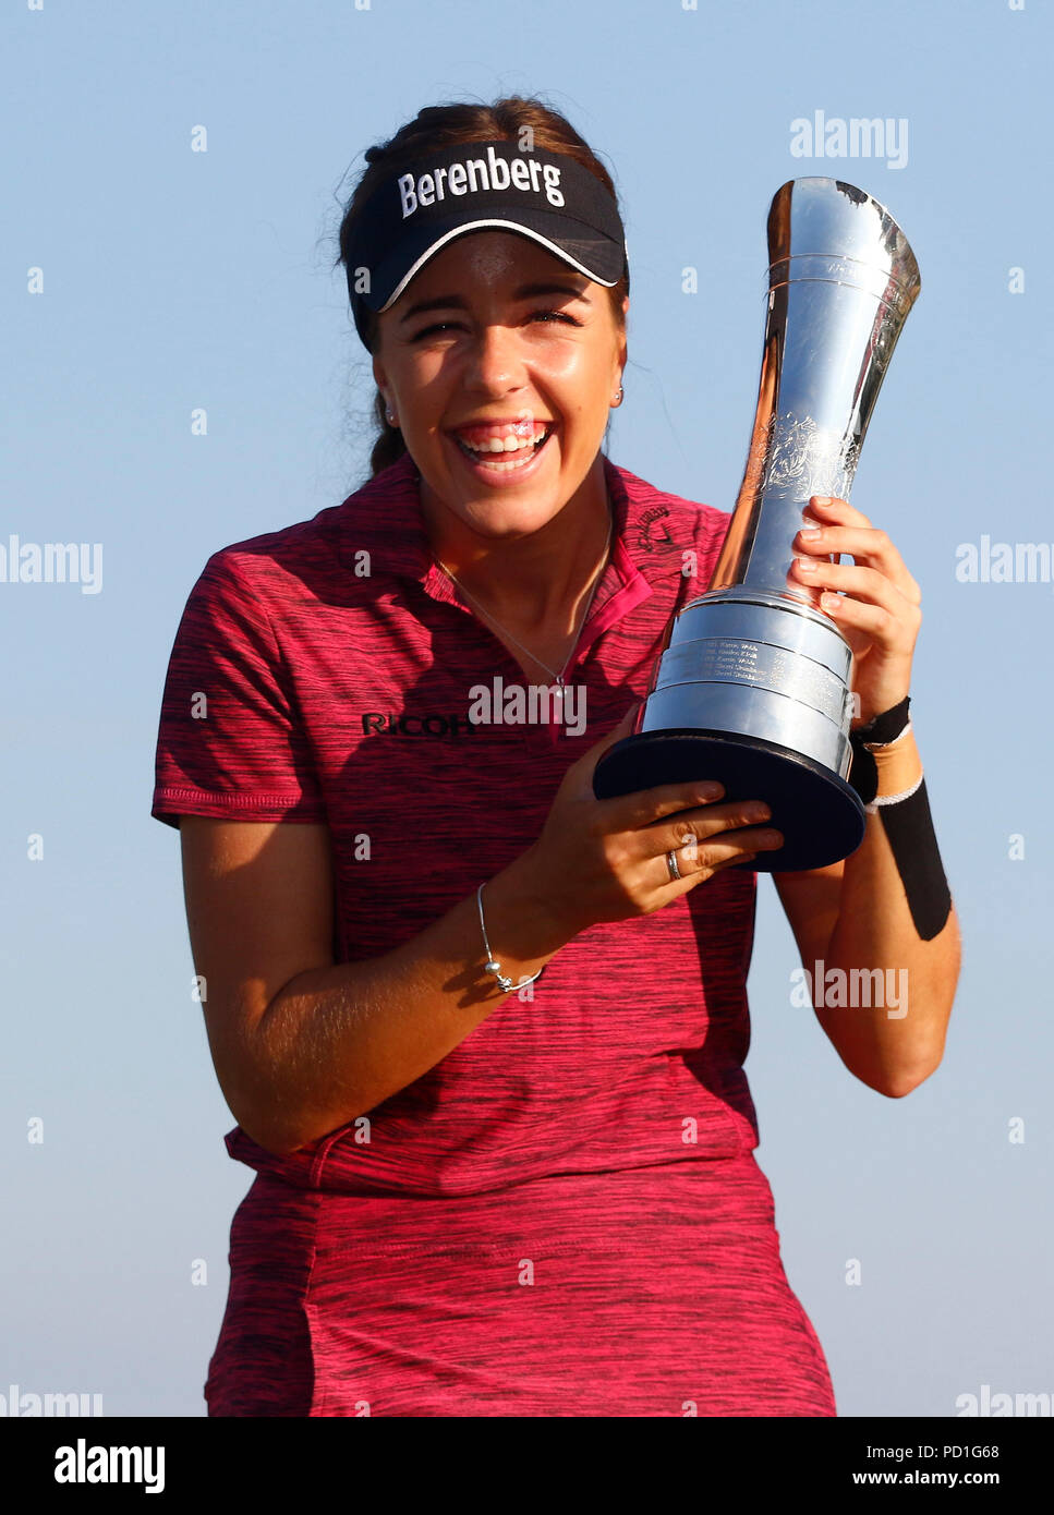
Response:
[[[161,703],[150,814],[324,821],[310,741],[267,611],[214,553],[183,611]]]

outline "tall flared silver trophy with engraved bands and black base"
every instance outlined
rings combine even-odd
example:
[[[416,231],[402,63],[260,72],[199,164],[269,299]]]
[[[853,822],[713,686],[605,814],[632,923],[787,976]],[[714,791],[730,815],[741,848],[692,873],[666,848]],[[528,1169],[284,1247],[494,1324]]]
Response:
[[[594,773],[597,798],[718,779],[765,800],[778,851],[759,871],[822,868],[863,841],[853,759],[853,651],[787,580],[813,494],[850,498],[897,338],[921,288],[897,221],[840,179],[795,179],[768,218],[768,318],[757,414],[728,535],[706,594],[672,617],[633,735]],[[831,559],[834,561],[834,559]]]

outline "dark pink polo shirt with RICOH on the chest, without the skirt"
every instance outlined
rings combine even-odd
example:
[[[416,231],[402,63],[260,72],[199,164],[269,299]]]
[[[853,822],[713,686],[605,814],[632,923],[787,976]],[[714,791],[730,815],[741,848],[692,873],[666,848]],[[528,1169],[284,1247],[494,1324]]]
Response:
[[[604,467],[613,551],[565,674],[586,688],[580,735],[468,718],[472,686],[524,674],[432,558],[403,458],[313,520],[209,559],[165,683],[153,815],[327,824],[338,962],[391,951],[474,894],[644,697],[665,626],[706,586],[728,526]],[[230,1154],[309,1186],[466,1194],[753,1148],[754,888],[753,873],[722,871],[648,917],[582,932],[533,1000],[509,995],[370,1112],[368,1142],[347,1126],[279,1159],[238,1127]]]

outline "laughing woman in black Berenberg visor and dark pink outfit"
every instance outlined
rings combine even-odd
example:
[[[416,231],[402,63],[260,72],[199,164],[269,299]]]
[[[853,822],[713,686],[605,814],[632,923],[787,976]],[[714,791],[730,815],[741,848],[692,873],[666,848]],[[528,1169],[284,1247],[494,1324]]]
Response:
[[[373,477],[209,559],[162,708],[153,814],[256,1170],[209,1413],[834,1415],[742,1071],[742,865],[778,833],[707,783],[592,797],[728,526],[601,451],[610,177],[519,98],[426,109],[366,159],[341,258]],[[859,511],[812,514],[794,574],[853,641],[875,803],[845,864],[774,877],[810,968],[909,970],[909,1017],[816,1011],[897,1097],[957,976],[931,829],[893,844],[881,809],[925,803],[919,591]]]

